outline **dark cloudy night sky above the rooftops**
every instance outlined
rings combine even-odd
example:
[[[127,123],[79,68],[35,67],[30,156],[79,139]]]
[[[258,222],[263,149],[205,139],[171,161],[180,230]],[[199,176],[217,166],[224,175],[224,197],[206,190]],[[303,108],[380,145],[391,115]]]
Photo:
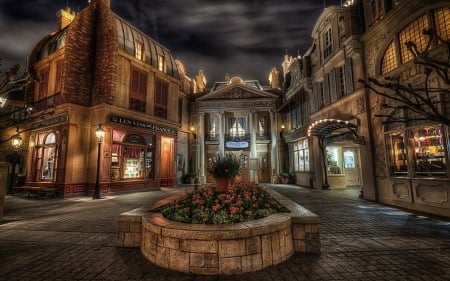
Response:
[[[227,73],[268,85],[286,51],[295,56],[311,46],[324,3],[341,0],[111,0],[111,9],[167,47],[188,76],[203,69],[209,87]],[[80,11],[88,1],[0,1],[2,71],[25,65],[38,41],[56,31],[56,12],[67,4]]]

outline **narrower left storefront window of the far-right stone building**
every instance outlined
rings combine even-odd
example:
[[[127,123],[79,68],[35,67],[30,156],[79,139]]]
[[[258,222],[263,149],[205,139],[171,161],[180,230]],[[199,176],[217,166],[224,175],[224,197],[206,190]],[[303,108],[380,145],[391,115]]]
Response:
[[[391,176],[406,176],[408,174],[408,157],[404,133],[390,133],[387,136],[387,143]]]

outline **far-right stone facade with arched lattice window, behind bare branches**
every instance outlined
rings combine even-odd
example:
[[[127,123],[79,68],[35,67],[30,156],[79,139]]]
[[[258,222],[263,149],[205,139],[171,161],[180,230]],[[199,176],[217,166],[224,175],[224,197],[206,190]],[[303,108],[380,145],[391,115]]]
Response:
[[[364,1],[366,32],[361,36],[367,77],[399,77],[412,87],[425,86],[424,66],[414,63],[406,42],[424,51],[431,28],[444,40],[450,39],[449,1]],[[448,59],[448,49],[433,39],[429,55]],[[429,87],[449,85],[431,73]],[[450,114],[448,95],[438,95],[436,103],[444,115]],[[376,199],[389,205],[450,216],[449,128],[439,122],[396,108],[391,98],[370,95]],[[382,116],[382,117],[377,117]],[[405,122],[391,122],[405,118]]]

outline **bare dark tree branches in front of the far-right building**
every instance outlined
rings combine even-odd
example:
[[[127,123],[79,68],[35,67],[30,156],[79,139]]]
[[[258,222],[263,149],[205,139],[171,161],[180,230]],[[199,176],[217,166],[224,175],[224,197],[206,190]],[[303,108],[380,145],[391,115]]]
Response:
[[[424,30],[428,37],[424,51],[420,51],[414,42],[408,41],[406,47],[414,56],[414,63],[424,66],[423,83],[419,85],[403,84],[400,77],[384,77],[382,79],[360,79],[364,87],[370,89],[376,95],[386,98],[382,108],[385,112],[404,110],[406,114],[375,114],[376,117],[384,117],[386,123],[405,123],[407,121],[429,120],[450,126],[450,112],[445,112],[445,106],[450,102],[450,40],[444,40],[432,29]],[[438,58],[431,53],[432,43],[443,43],[446,48],[446,56]],[[432,87],[432,77],[438,76],[444,83],[443,87]],[[450,108],[450,107],[449,107]]]

